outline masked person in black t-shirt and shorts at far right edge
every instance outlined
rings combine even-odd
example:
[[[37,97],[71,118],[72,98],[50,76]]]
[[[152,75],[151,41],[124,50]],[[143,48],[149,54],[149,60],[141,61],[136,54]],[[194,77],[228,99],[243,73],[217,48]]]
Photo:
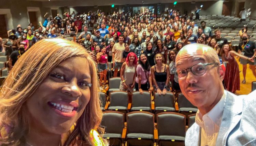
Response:
[[[247,33],[244,33],[242,35],[242,42],[239,43],[238,50],[241,51],[241,54],[248,57],[248,58],[253,58],[255,60],[256,56],[256,51],[254,52],[256,48],[255,42],[250,41],[248,38]],[[240,58],[240,63],[243,65],[243,81],[242,84],[245,84],[245,76],[246,76],[246,69],[247,69],[247,64],[249,64],[249,68],[252,70],[253,75],[256,77],[256,71],[255,71],[255,61],[251,62],[247,59]]]

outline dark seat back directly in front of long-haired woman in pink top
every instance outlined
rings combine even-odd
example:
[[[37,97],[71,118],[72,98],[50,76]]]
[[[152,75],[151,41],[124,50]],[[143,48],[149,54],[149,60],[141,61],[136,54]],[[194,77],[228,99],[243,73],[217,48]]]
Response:
[[[150,92],[143,91],[143,94],[140,94],[139,91],[133,92],[132,107],[150,107],[151,108]]]

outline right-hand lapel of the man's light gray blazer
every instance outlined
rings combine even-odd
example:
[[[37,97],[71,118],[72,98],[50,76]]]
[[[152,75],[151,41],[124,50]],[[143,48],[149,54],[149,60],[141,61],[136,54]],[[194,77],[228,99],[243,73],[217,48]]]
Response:
[[[216,145],[226,145],[229,133],[241,120],[242,108],[242,98],[239,98],[237,95],[227,91],[222,122],[219,128]]]

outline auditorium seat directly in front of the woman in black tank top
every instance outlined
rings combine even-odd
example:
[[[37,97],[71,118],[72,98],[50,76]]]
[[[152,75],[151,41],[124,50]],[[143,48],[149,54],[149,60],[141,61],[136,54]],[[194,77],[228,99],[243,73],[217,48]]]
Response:
[[[165,95],[154,93],[155,114],[166,111],[175,111],[175,96],[172,92]]]

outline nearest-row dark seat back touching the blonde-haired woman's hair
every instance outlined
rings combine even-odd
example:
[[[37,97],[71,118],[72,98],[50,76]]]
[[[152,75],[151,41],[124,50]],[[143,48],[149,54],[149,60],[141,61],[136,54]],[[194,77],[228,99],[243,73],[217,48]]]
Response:
[[[122,134],[125,122],[125,114],[116,111],[105,111],[101,125],[105,127],[106,133]]]

